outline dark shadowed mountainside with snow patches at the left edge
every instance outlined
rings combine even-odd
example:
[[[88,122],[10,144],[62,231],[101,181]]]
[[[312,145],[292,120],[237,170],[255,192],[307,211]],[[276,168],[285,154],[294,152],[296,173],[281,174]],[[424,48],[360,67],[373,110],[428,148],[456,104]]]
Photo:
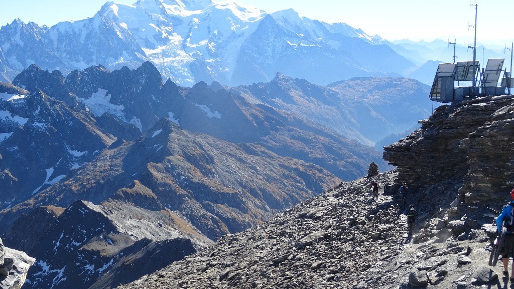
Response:
[[[111,133],[125,127],[113,120],[110,128],[100,128],[100,121],[91,113],[40,89],[29,94],[0,83],[0,96],[2,208],[27,200],[58,182],[70,169],[94,159],[116,140]],[[116,123],[118,129],[107,132],[106,128],[115,128]]]

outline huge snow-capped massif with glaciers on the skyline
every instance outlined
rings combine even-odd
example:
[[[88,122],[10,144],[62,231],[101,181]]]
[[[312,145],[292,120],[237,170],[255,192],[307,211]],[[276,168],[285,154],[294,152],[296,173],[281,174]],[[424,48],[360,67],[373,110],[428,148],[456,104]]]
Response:
[[[234,1],[108,2],[93,17],[52,27],[15,20],[0,29],[0,43],[0,72],[9,81],[32,63],[66,75],[150,61],[164,80],[182,86],[251,84],[277,72],[326,85],[377,71],[400,75],[414,66],[346,24],[291,9],[267,14]]]

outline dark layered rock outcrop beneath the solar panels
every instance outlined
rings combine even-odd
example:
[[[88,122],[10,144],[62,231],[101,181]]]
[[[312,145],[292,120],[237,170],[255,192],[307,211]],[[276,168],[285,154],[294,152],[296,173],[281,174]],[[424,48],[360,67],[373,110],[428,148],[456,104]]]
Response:
[[[398,168],[400,182],[454,183],[445,190],[460,201],[501,203],[514,185],[513,101],[497,96],[439,106],[421,129],[385,147],[383,157]]]

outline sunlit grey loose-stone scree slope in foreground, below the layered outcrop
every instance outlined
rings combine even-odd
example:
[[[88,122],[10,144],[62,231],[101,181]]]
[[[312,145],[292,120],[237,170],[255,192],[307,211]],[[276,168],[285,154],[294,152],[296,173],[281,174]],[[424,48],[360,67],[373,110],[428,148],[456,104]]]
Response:
[[[433,222],[445,227],[458,218],[457,210],[446,207],[435,219],[416,203],[422,221],[409,236],[405,210],[388,193],[394,178],[392,173],[377,177],[387,186],[378,201],[371,197],[370,178],[344,183],[118,288],[480,287],[487,234],[474,229],[471,240],[460,241],[441,228],[427,237]]]

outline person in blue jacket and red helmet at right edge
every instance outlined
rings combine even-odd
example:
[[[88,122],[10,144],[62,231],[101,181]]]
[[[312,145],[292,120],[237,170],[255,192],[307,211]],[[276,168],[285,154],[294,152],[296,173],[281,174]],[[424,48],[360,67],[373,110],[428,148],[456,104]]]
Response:
[[[514,189],[510,191],[510,198],[514,200]],[[498,236],[502,233],[502,223],[503,226],[507,229],[505,235],[505,241],[502,247],[502,260],[503,260],[503,276],[508,277],[508,266],[509,266],[509,258],[514,257],[514,222],[513,218],[513,210],[514,201],[511,201],[507,205],[503,206],[502,212],[496,218],[496,228],[498,232]],[[514,261],[512,262],[512,268],[510,270],[510,282],[514,282]]]

